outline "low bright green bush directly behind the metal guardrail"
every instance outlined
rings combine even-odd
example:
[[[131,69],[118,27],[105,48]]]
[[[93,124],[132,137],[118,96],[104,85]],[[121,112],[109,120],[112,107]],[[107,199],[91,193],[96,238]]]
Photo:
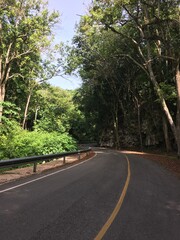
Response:
[[[12,130],[2,136],[0,158],[17,158],[76,150],[75,140],[68,134]]]

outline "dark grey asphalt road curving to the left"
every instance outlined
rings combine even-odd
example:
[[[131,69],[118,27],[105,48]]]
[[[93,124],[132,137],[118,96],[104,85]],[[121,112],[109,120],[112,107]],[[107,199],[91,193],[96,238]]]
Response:
[[[101,230],[103,240],[179,240],[179,179],[127,156],[98,150],[80,165],[1,185],[0,240],[100,240]]]

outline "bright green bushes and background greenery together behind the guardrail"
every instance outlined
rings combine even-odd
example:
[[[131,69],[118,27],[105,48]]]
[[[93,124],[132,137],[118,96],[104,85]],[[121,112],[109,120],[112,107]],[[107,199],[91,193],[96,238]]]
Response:
[[[72,102],[73,93],[47,84],[44,84],[41,90],[37,88],[35,92],[32,107],[39,107],[39,113],[34,131],[23,130],[15,121],[18,119],[20,110],[15,104],[10,102],[3,104],[0,159],[76,149],[76,141],[68,134],[70,120],[75,112]],[[33,115],[29,117],[31,116],[33,117]]]

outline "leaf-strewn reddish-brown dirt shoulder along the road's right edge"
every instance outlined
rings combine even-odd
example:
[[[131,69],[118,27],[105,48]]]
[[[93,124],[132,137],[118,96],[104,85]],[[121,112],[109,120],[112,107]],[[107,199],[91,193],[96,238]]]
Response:
[[[139,155],[145,159],[152,160],[157,164],[160,164],[167,170],[174,173],[178,178],[180,178],[180,159],[173,155],[167,154],[156,154],[156,153],[146,153],[146,152],[136,152],[136,151],[121,151],[122,153]]]

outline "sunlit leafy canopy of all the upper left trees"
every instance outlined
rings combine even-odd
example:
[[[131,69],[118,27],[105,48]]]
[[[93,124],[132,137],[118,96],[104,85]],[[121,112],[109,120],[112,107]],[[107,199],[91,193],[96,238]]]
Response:
[[[0,5],[0,101],[5,98],[21,108],[19,117],[24,126],[29,108],[26,103],[34,83],[45,81],[56,72],[52,58],[45,56],[55,49],[51,47],[52,30],[59,13],[49,12],[44,0],[2,0]],[[5,114],[2,110],[3,107],[0,122]]]

